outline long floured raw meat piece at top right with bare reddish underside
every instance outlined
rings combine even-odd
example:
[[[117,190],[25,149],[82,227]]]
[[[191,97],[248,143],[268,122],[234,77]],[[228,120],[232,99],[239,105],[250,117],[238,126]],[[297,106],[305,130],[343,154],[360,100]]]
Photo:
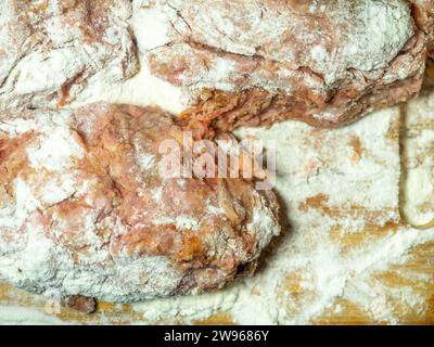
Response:
[[[339,126],[421,87],[425,35],[404,0],[138,0],[135,11],[151,72],[184,90],[200,132]]]

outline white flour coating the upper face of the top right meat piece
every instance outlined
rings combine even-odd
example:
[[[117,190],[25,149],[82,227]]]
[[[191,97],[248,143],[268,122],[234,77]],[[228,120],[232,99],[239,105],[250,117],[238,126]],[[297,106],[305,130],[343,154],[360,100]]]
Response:
[[[155,53],[162,68],[170,65],[170,54],[194,66],[180,63],[183,73],[174,73],[190,92],[260,87],[291,94],[294,80],[309,83],[302,67],[324,79],[324,86],[311,81],[312,90],[329,89],[350,78],[352,69],[387,67],[414,35],[405,0],[314,1],[308,11],[301,15],[284,2],[232,1],[228,10],[225,1],[135,0],[132,26],[141,53]],[[277,67],[279,78],[272,75]]]

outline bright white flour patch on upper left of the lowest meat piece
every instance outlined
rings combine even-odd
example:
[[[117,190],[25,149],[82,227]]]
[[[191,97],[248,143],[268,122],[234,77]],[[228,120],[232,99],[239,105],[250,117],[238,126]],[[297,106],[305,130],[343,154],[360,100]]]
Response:
[[[43,174],[35,175],[33,179],[25,180],[17,177],[14,183],[16,206],[14,211],[0,207],[0,226],[20,228],[28,214],[41,208],[42,205],[52,205],[71,196],[77,184],[74,175],[59,175],[58,171],[69,167],[72,158],[80,158],[82,149],[67,126],[67,113],[46,112],[37,119],[0,120],[0,131],[20,137],[33,131],[41,133],[27,147],[29,164],[35,169],[42,169]],[[51,172],[50,180],[46,172]],[[11,216],[13,216],[11,218]]]

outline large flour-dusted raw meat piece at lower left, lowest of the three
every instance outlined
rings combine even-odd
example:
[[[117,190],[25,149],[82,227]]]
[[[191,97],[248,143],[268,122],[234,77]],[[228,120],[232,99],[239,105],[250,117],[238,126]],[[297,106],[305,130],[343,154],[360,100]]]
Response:
[[[48,296],[112,301],[222,286],[279,234],[271,191],[168,178],[159,108],[95,104],[3,114],[0,277]]]

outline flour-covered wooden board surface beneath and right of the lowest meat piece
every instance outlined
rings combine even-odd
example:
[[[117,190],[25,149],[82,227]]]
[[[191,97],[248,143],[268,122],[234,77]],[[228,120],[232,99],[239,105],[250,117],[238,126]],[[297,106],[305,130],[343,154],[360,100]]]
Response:
[[[243,129],[277,142],[285,232],[256,275],[221,292],[82,316],[0,286],[1,323],[434,323],[434,231],[399,217],[398,108],[350,127]]]

